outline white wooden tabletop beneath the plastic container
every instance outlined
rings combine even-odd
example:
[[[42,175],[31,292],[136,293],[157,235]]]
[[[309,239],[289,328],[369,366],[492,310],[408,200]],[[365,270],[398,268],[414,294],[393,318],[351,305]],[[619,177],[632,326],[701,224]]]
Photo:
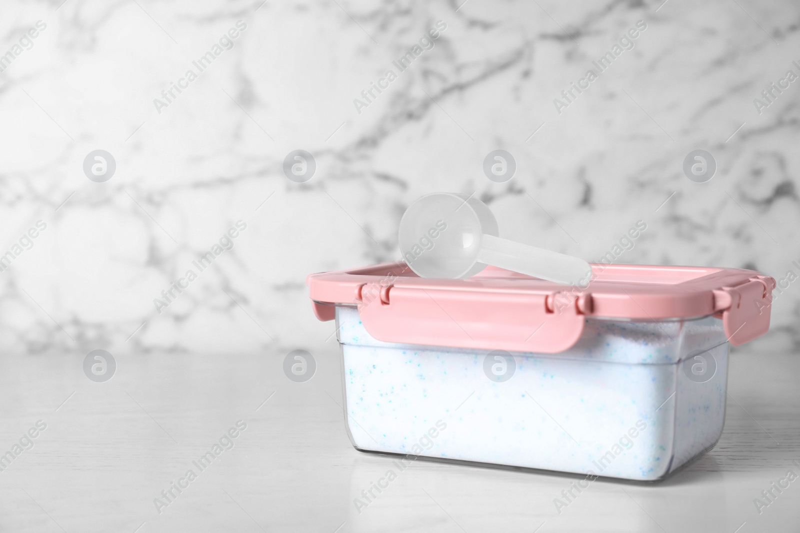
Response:
[[[358,513],[393,458],[351,447],[334,342],[313,351],[306,383],[282,372],[290,349],[117,356],[106,383],[86,378],[83,356],[4,356],[0,453],[24,446],[0,471],[0,531],[800,531],[800,480],[761,514],[753,503],[800,475],[797,354],[734,348],[714,450],[662,483],[598,480],[559,515],[553,500],[577,478],[424,460]],[[201,471],[193,461],[238,420]],[[157,509],[173,482],[184,488]]]

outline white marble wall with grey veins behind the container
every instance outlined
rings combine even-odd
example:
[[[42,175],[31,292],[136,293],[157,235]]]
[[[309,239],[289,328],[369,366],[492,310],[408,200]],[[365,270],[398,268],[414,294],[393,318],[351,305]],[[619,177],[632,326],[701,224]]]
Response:
[[[0,272],[6,353],[332,344],[306,275],[398,258],[404,209],[438,190],[476,193],[505,237],[587,260],[642,220],[619,261],[800,273],[800,82],[754,105],[800,74],[790,0],[9,0],[0,12],[0,54],[46,24],[0,74],[0,253],[46,224]],[[354,98],[440,20],[434,48],[358,113]],[[237,21],[234,46],[156,109]],[[558,113],[554,98],[637,21],[634,48]],[[95,149],[117,164],[104,183],[83,173]],[[282,173],[294,149],[317,161],[304,184]],[[506,183],[482,172],[494,149],[517,161]],[[694,149],[714,155],[711,181],[683,175]],[[158,314],[154,298],[237,221],[233,249]],[[756,346],[796,347],[798,319],[800,281]]]

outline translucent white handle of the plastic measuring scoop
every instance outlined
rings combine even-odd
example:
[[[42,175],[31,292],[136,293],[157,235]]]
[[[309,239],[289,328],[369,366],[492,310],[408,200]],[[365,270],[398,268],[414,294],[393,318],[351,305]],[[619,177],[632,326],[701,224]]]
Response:
[[[483,233],[478,261],[562,284],[586,284],[592,268],[580,257],[522,245]]]

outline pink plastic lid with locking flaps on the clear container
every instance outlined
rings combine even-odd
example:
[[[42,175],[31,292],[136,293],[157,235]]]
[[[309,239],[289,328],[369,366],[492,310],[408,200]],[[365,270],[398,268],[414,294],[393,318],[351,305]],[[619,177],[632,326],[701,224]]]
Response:
[[[385,342],[557,353],[587,317],[675,320],[714,315],[745,344],[770,329],[775,280],[753,270],[592,265],[586,288],[486,267],[466,280],[418,277],[405,263],[311,274],[314,313],[358,307],[366,331]]]

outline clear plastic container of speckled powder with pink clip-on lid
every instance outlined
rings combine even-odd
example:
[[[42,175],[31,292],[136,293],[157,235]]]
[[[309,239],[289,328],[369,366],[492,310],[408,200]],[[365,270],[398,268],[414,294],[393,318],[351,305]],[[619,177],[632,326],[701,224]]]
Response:
[[[308,277],[336,320],[361,451],[653,481],[714,447],[729,344],[770,327],[775,281],[592,265],[586,288],[404,263]]]

